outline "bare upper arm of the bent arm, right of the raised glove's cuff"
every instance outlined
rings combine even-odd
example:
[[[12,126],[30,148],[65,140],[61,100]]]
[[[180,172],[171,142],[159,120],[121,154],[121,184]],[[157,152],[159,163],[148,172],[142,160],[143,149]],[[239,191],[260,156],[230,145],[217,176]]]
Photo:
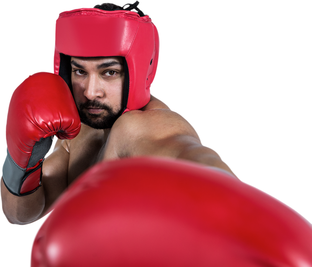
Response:
[[[67,188],[69,153],[66,147],[66,140],[58,139],[52,153],[43,161],[41,185],[44,190],[45,205],[39,218],[47,214],[52,204]]]

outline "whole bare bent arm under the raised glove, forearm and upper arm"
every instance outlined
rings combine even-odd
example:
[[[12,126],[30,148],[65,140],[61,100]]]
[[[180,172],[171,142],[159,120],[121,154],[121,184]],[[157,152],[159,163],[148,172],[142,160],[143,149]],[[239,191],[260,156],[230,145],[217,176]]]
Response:
[[[29,195],[16,196],[5,187],[1,178],[1,211],[12,225],[28,225],[40,220],[67,187],[69,153],[66,140],[58,139],[52,153],[43,161],[41,186]]]

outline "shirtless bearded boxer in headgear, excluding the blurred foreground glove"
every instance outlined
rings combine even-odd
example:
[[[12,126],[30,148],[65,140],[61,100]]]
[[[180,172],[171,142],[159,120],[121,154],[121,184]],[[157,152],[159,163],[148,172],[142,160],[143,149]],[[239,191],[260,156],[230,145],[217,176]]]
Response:
[[[171,157],[239,179],[185,117],[151,94],[160,58],[154,21],[141,10],[137,16],[97,8],[59,14],[53,74],[32,74],[11,95],[0,184],[10,224],[40,220],[82,172],[103,160]],[[55,135],[55,147],[43,160],[40,154]],[[31,146],[29,136],[35,136]]]

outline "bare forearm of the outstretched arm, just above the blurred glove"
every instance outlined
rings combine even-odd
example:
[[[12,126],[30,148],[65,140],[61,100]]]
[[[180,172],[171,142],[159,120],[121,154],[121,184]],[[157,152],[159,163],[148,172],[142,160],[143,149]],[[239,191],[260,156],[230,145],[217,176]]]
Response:
[[[184,149],[177,158],[198,162],[209,167],[219,168],[237,177],[228,163],[223,160],[221,155],[205,145],[190,146]],[[240,178],[238,179],[240,180]]]

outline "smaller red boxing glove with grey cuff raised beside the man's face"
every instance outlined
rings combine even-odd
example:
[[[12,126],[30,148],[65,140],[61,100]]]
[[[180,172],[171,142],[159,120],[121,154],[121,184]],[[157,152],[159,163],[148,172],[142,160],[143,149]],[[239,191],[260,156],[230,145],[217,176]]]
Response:
[[[72,139],[79,131],[75,100],[59,75],[39,71],[24,78],[13,90],[6,114],[6,156],[1,166],[6,188],[17,196],[36,191],[53,135]]]

